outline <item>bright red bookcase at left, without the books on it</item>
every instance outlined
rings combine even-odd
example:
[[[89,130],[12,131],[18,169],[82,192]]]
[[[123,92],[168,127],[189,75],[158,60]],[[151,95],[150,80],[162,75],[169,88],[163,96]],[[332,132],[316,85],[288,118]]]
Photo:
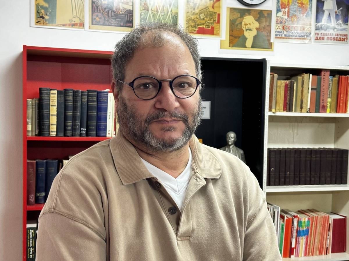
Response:
[[[27,137],[27,99],[39,87],[58,90],[110,89],[112,52],[23,46],[23,260],[27,220],[37,219],[44,204],[27,205],[27,159],[67,159],[107,137]]]

